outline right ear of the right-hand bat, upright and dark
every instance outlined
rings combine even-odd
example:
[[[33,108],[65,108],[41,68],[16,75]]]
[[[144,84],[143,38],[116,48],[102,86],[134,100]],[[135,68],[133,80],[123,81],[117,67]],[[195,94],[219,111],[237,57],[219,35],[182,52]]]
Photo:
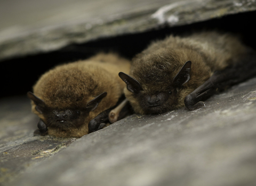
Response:
[[[185,65],[182,66],[177,75],[173,78],[173,83],[175,87],[181,87],[183,84],[188,82],[190,79],[190,69],[191,61],[187,61]]]

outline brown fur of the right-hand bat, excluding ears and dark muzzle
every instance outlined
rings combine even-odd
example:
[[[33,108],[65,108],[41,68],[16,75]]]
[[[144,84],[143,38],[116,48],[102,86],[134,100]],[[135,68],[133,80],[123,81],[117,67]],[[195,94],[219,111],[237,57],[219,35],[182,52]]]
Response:
[[[214,71],[236,63],[237,56],[245,52],[246,47],[237,37],[217,32],[194,33],[188,37],[169,36],[155,41],[132,60],[130,75],[140,82],[143,91],[134,95],[125,88],[125,96],[136,113],[151,114],[143,105],[143,97],[170,90],[175,75],[186,61],[191,61],[190,80],[183,84],[177,95],[169,97],[158,113],[183,107],[190,92],[209,79]]]

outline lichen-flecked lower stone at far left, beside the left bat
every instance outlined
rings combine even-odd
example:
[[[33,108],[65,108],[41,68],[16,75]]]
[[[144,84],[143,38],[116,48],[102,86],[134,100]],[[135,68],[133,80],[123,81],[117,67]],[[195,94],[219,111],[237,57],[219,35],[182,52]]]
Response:
[[[0,100],[0,185],[15,179],[26,168],[53,156],[75,138],[35,136],[38,118],[26,97]]]

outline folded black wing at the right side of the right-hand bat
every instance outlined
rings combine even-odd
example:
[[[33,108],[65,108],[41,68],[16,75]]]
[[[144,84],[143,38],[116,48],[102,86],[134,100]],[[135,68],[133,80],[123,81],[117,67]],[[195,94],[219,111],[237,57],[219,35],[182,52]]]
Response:
[[[185,106],[190,111],[193,111],[203,106],[203,100],[213,95],[217,88],[231,86],[256,75],[255,51],[250,51],[236,60],[238,61],[237,63],[228,66],[225,70],[216,71],[211,78],[186,96],[184,100]]]

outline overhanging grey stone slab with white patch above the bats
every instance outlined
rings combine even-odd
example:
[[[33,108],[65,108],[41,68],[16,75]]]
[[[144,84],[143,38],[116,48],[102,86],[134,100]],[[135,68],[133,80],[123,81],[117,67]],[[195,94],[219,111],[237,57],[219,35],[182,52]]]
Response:
[[[0,60],[256,10],[255,0],[0,2]]]

